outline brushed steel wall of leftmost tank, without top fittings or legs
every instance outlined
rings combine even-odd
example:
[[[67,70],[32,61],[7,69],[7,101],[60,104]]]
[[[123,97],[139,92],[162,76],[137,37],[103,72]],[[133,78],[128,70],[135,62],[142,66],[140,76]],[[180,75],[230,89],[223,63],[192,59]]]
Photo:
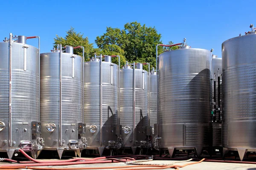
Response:
[[[24,47],[25,59],[24,61]],[[26,71],[24,71],[26,62]],[[12,143],[32,139],[32,121],[39,121],[38,49],[27,44],[12,42]],[[6,127],[0,131],[0,150],[6,150],[9,141],[9,42],[0,42],[0,122]],[[25,131],[25,128],[27,129]],[[7,143],[4,144],[4,140]]]

